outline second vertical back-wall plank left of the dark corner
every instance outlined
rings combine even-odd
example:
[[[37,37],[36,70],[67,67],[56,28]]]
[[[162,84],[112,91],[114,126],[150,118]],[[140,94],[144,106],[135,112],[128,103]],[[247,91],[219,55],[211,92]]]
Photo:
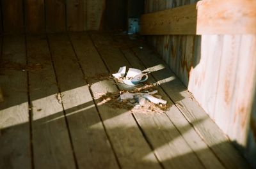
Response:
[[[86,0],[67,1],[67,30],[86,31]]]

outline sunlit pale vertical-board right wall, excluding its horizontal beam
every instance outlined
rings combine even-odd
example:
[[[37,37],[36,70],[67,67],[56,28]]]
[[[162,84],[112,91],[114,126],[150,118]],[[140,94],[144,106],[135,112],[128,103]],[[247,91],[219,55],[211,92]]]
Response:
[[[146,0],[145,13],[196,1]],[[148,36],[148,41],[256,168],[256,35]],[[254,149],[254,156],[246,149]]]

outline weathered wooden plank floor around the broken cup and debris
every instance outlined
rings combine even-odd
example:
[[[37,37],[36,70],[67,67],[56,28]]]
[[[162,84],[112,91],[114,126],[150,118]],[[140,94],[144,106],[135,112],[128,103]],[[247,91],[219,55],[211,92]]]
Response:
[[[127,89],[92,77],[150,71],[171,107],[141,114],[100,103]],[[249,168],[143,41],[99,32],[1,37],[0,168]]]

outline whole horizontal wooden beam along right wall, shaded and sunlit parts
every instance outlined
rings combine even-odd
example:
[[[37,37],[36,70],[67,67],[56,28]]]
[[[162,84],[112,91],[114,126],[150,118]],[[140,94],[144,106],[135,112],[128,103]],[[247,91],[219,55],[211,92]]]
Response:
[[[141,34],[256,34],[256,1],[204,0],[141,16]]]

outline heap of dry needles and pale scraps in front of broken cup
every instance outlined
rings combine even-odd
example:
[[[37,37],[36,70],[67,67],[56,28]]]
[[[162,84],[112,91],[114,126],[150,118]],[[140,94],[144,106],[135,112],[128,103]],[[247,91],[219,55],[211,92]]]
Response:
[[[99,105],[121,108],[138,113],[163,113],[170,105],[160,95],[156,86],[145,85],[131,91],[108,92],[100,94]],[[154,101],[154,102],[153,102]]]

